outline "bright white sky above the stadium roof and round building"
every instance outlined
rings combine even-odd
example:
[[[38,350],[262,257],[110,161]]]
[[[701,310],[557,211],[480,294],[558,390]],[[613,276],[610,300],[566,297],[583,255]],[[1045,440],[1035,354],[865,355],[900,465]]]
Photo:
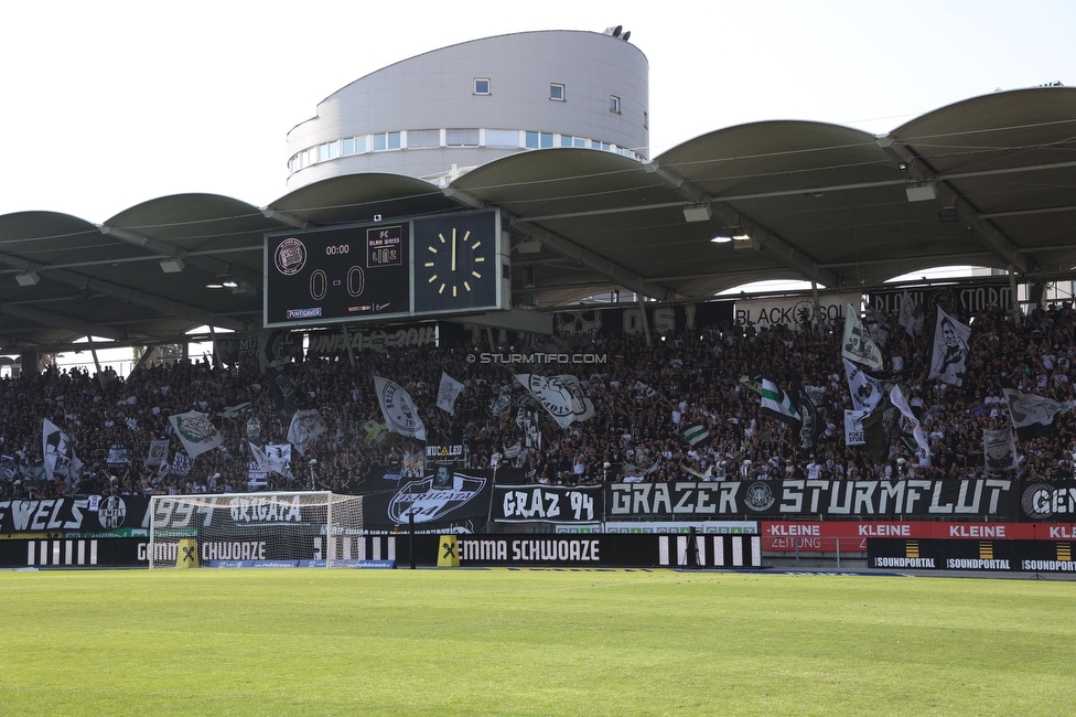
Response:
[[[742,122],[883,133],[999,87],[1076,85],[1070,0],[4,2],[0,214],[265,205],[287,193],[288,130],[347,83],[478,38],[617,24],[649,60],[652,157]]]

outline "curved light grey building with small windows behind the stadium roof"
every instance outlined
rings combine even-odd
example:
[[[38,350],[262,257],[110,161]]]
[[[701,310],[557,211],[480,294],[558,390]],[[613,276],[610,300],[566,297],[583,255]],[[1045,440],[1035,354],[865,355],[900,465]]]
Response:
[[[648,158],[649,64],[612,32],[541,31],[434,50],[333,93],[288,133],[288,188],[364,172],[446,185],[534,149]]]

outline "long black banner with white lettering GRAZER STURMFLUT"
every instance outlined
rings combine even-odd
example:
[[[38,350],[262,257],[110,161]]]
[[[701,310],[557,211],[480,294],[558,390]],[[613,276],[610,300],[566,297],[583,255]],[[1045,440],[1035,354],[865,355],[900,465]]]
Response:
[[[1014,521],[1020,520],[1020,489],[1016,481],[989,478],[614,483],[605,489],[605,518],[815,515],[882,520],[991,516]]]

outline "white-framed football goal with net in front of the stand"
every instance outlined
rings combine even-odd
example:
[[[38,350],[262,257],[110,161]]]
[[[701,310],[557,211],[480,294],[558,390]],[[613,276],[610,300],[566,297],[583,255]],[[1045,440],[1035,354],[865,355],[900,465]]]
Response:
[[[148,557],[151,568],[349,567],[362,535],[361,495],[154,495]]]

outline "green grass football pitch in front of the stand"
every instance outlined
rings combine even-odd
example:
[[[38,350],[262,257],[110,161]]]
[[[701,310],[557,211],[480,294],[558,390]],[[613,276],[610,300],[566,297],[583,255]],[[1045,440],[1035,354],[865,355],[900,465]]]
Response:
[[[1072,715],[1076,582],[0,574],[0,714]]]

